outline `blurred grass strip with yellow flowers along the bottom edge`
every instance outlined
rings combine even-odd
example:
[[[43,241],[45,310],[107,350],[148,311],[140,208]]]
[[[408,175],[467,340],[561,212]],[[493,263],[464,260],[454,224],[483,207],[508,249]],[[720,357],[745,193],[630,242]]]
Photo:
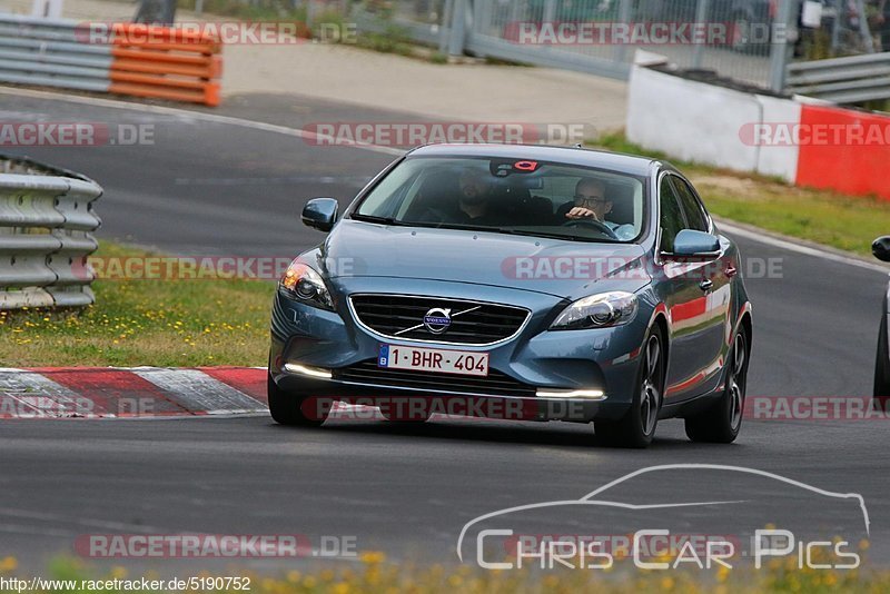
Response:
[[[554,570],[532,573],[520,571],[482,571],[469,566],[445,567],[443,565],[416,566],[387,563],[382,553],[365,553],[359,563],[315,571],[290,571],[280,577],[256,575],[251,572],[227,571],[226,575],[249,578],[250,592],[261,594],[297,593],[368,593],[411,592],[417,594],[452,593],[570,593],[602,592],[604,594],[631,594],[636,592],[676,593],[829,593],[829,592],[887,592],[890,588],[890,572],[858,570],[800,570],[797,556],[774,560],[761,571],[736,567],[712,570],[633,571],[625,566],[607,570]],[[17,562],[13,557],[0,560],[0,576],[13,575]],[[125,567],[113,567],[106,573],[91,571],[80,560],[58,558],[47,572],[49,580],[73,581],[65,588],[37,588],[31,592],[108,592],[122,591],[113,581],[138,582],[142,575],[129,575]],[[207,572],[192,573],[198,580],[218,577]],[[146,580],[164,580],[149,572]],[[23,578],[23,577],[20,577]],[[46,580],[46,577],[44,577]],[[164,580],[155,592],[169,592]],[[99,585],[101,584],[101,586]],[[214,584],[212,581],[209,584]],[[58,584],[57,584],[58,585]],[[220,584],[221,585],[221,584]],[[12,586],[14,588],[14,586]],[[227,588],[205,591],[225,592]],[[228,588],[234,592],[234,588]]]

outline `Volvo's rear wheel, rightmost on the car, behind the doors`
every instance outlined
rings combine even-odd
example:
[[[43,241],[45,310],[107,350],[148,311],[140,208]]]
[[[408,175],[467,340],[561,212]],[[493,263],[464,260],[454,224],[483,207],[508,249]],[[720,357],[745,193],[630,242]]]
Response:
[[[686,418],[686,436],[693,442],[731,444],[742,428],[748,388],[748,334],[739,330],[726,357],[726,385],[720,400]]]

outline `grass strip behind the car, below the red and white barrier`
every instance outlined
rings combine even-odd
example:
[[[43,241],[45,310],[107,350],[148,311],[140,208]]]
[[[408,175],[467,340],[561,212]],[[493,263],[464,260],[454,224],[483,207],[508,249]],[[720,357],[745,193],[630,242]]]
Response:
[[[798,188],[775,178],[679,161],[629,142],[623,135],[603,136],[596,146],[670,160],[719,217],[860,255],[870,255],[874,238],[890,234],[888,200]]]

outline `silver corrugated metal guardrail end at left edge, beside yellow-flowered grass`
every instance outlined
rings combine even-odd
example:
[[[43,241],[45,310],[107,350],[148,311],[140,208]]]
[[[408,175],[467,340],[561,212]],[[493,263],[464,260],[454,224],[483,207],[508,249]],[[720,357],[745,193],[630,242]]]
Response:
[[[0,309],[93,303],[102,188],[73,171],[0,155]]]

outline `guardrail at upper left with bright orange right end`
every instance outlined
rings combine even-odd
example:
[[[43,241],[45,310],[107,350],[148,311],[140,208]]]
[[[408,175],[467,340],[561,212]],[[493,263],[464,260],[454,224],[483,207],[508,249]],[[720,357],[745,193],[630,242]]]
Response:
[[[132,23],[0,14],[0,81],[219,105],[220,43]]]

